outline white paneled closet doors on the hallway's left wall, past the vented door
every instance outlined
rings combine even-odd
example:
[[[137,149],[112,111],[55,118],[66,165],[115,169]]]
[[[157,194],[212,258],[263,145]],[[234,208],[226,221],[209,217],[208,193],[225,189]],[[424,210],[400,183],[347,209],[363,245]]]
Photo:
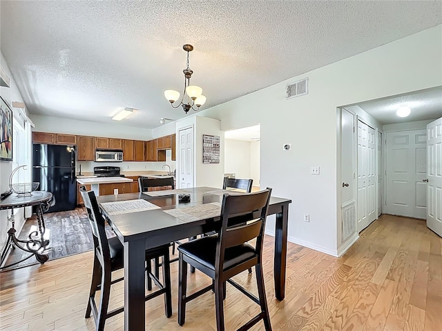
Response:
[[[358,120],[358,232],[376,219],[376,131]]]

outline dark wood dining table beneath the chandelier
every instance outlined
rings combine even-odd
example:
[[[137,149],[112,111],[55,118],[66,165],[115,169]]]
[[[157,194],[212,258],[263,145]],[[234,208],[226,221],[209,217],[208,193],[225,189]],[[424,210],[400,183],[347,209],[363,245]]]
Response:
[[[162,192],[162,193],[158,193]],[[229,192],[229,191],[225,191]],[[124,245],[124,330],[144,330],[144,250],[194,237],[198,234],[217,230],[219,217],[197,221],[184,221],[165,212],[169,209],[189,208],[204,203],[222,202],[219,188],[186,188],[181,190],[156,191],[151,194],[168,194],[151,197],[144,193],[128,193],[97,197],[100,208],[119,241]],[[189,203],[180,203],[178,195],[190,194]],[[110,214],[102,203],[143,199],[160,208],[124,214]],[[290,199],[271,197],[268,214],[276,215],[275,250],[273,277],[278,300],[285,297],[285,263],[287,254],[287,224]]]

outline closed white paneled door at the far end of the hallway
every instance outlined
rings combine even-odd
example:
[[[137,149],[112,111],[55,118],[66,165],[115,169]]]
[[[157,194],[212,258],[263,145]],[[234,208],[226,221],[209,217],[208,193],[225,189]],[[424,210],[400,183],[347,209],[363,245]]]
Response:
[[[425,219],[427,134],[425,129],[387,132],[387,214]]]

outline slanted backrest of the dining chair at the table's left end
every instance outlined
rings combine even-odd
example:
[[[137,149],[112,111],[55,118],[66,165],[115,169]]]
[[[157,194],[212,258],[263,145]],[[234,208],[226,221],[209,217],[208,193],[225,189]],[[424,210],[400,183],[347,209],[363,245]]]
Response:
[[[84,207],[88,212],[88,219],[94,239],[95,254],[101,257],[100,263],[104,266],[106,262],[110,263],[111,261],[106,229],[104,228],[105,221],[99,210],[95,193],[93,191],[87,191],[85,186],[80,186],[80,193],[84,201]]]

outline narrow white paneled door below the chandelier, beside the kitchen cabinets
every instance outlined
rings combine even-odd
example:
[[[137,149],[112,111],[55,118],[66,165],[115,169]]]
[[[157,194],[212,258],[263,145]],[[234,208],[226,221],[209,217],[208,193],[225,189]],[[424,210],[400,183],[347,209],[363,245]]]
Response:
[[[193,188],[193,128],[178,131],[179,137],[179,188]]]

